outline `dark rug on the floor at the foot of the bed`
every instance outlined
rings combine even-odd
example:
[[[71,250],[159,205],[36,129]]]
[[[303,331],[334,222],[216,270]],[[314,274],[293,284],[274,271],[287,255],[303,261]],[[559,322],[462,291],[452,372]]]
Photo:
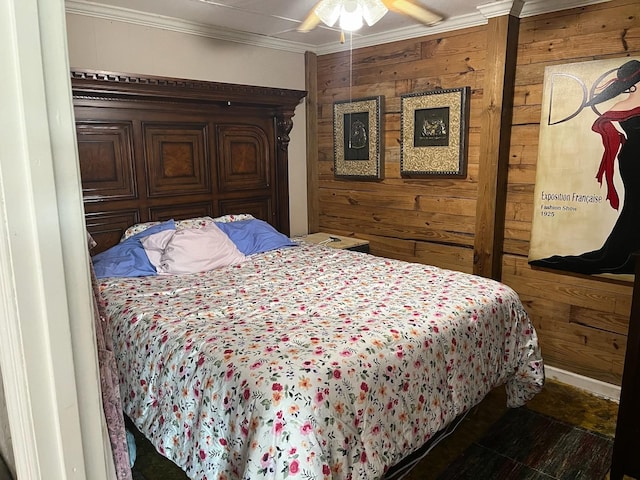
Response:
[[[509,409],[438,480],[602,480],[613,439],[521,407]]]

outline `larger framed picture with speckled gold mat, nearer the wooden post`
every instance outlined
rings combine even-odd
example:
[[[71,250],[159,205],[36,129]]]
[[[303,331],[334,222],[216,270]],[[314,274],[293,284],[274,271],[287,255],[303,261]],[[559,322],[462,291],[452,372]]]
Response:
[[[402,175],[467,175],[470,91],[462,87],[402,95]]]

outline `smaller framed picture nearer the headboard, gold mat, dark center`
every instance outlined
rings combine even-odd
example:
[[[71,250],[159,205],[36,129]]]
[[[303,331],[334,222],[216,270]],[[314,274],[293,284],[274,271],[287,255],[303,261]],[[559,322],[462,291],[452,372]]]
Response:
[[[382,179],[382,104],[381,96],[333,104],[336,177]]]

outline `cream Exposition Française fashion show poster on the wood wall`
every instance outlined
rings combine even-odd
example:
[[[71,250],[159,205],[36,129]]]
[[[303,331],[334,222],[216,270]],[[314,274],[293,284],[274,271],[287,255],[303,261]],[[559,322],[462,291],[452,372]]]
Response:
[[[640,59],[545,69],[529,263],[632,278],[640,251]]]

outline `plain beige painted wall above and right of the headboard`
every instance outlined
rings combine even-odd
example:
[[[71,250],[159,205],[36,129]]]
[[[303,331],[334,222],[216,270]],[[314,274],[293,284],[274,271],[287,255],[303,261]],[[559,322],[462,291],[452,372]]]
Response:
[[[216,40],[124,21],[67,14],[73,68],[305,89],[304,53]],[[291,235],[307,233],[304,101],[289,144]]]

